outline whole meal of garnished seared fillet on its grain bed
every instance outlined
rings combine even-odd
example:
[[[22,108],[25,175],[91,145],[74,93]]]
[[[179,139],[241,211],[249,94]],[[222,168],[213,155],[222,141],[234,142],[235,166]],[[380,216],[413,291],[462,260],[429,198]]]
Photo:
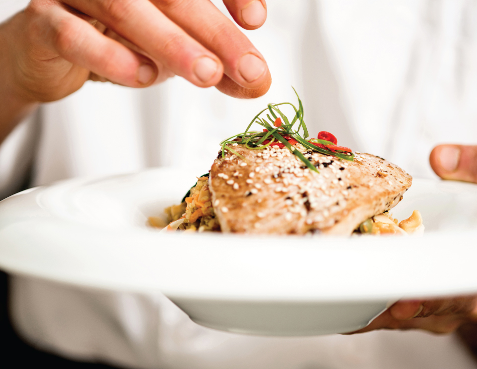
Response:
[[[292,120],[281,111],[286,106],[294,110]],[[209,173],[198,177],[180,204],[165,209],[170,223],[164,231],[423,232],[418,211],[401,222],[389,213],[410,187],[409,174],[381,157],[338,146],[329,132],[310,139],[303,115],[299,97],[298,108],[268,104],[245,132],[222,141]],[[250,130],[254,123],[262,131]],[[153,217],[149,222],[160,226]]]

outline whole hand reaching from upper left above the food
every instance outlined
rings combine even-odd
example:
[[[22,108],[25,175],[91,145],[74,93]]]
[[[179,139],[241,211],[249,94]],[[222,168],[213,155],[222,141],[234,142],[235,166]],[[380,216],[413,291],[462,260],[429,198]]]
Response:
[[[223,0],[254,30],[265,0]],[[209,0],[32,0],[0,24],[0,142],[38,103],[86,80],[147,87],[174,75],[237,98],[264,95],[267,62]]]

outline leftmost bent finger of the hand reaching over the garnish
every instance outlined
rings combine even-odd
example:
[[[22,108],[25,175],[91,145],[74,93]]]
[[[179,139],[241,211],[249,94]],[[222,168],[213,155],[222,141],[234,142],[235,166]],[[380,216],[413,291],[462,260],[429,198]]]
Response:
[[[60,6],[51,6],[48,12],[51,46],[68,62],[125,86],[145,87],[155,80],[157,68],[149,59]]]

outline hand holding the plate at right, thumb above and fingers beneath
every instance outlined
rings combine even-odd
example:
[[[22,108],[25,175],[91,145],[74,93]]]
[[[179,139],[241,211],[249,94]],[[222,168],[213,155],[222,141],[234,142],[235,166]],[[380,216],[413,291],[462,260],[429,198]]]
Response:
[[[429,162],[442,179],[477,183],[477,146],[439,145],[432,150]],[[477,295],[398,301],[368,326],[351,333],[375,329],[424,329],[450,333],[466,323],[472,330],[471,335],[466,335],[475,341],[477,326],[473,323],[477,323]],[[468,341],[468,337],[464,339]]]

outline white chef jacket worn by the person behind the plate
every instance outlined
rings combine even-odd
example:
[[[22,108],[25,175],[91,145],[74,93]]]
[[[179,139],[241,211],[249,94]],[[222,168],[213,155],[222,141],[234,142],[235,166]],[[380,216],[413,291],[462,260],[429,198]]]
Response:
[[[24,3],[3,0],[0,13]],[[265,25],[244,32],[272,72],[264,97],[240,101],[179,77],[143,90],[87,82],[44,104],[1,145],[1,194],[19,188],[29,163],[33,184],[191,158],[206,171],[217,143],[266,103],[296,101],[291,85],[311,133],[331,131],[339,144],[386,157],[414,177],[434,176],[435,144],[477,143],[475,1],[273,0]],[[454,335],[254,337],[201,327],[160,294],[10,281],[17,332],[78,360],[171,369],[477,368]]]

